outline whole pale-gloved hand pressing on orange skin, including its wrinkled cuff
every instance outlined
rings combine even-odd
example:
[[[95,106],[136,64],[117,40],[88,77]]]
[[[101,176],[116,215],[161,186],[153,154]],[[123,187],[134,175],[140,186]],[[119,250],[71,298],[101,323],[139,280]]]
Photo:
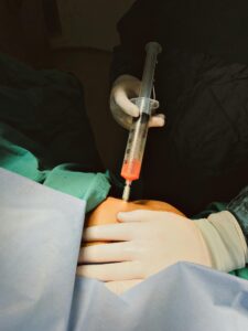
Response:
[[[127,290],[177,261],[223,271],[246,264],[245,237],[229,212],[191,221],[174,213],[139,210],[119,213],[118,220],[120,224],[93,226],[85,231],[87,242],[116,243],[82,248],[79,261],[91,265],[77,268],[80,276],[110,281],[108,287],[116,292]]]

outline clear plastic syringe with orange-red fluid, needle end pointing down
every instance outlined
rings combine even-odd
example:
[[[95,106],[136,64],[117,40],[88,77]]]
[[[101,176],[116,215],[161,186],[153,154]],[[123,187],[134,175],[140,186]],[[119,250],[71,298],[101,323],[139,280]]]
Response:
[[[147,57],[140,95],[134,99],[136,105],[140,109],[140,116],[132,121],[121,169],[121,177],[126,180],[126,186],[122,194],[122,200],[125,201],[129,200],[132,181],[138,180],[140,177],[149,120],[152,109],[155,108],[155,103],[158,104],[158,102],[151,99],[151,93],[153,88],[157,57],[158,54],[162,52],[162,47],[157,42],[150,42],[147,44],[145,51]]]

